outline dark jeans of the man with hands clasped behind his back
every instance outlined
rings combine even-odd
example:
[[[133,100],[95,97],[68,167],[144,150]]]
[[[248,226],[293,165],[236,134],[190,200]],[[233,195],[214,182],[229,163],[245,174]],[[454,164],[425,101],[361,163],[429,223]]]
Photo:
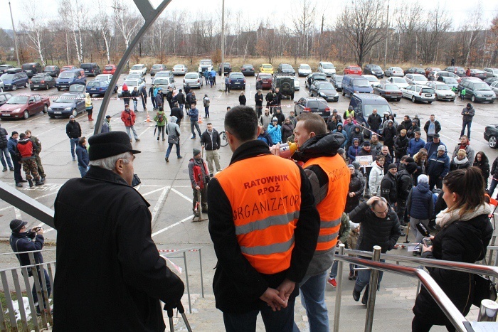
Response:
[[[261,318],[265,323],[266,331],[292,331],[294,323],[294,303],[296,298],[290,297],[287,308],[280,311],[272,311],[266,302],[260,301],[260,307],[244,314],[223,313],[223,323],[227,332],[254,332],[256,331],[256,319],[261,312]]]

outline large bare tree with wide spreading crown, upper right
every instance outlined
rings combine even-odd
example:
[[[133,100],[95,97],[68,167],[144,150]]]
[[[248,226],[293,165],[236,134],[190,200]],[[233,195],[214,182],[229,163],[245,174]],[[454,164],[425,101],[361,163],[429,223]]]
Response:
[[[386,31],[383,0],[356,0],[345,6],[337,21],[337,31],[344,35],[362,66],[373,46],[383,41]]]

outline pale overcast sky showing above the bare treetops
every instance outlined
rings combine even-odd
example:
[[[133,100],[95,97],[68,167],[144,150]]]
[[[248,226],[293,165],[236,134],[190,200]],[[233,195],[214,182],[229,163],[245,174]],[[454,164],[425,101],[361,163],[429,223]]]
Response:
[[[26,0],[11,0],[12,14],[14,16],[14,23],[16,26],[19,25],[20,21],[23,21],[23,1]],[[59,0],[27,0],[36,1],[38,6],[46,11],[46,16],[48,19],[57,18],[58,14],[58,2]],[[107,6],[109,11],[112,0],[81,0],[89,4],[93,9],[97,6]],[[134,6],[132,0],[127,1],[130,6]],[[317,4],[317,16],[322,16],[323,11],[326,12],[327,21],[326,24],[329,26],[334,25],[334,20],[337,14],[341,11],[341,7],[337,6],[338,1],[330,0],[312,0]],[[351,0],[354,1],[354,0]],[[387,1],[387,0],[386,0]],[[412,0],[390,0],[391,9],[393,6],[402,6],[403,4],[410,3]],[[152,4],[159,4],[161,0],[151,0]],[[480,1],[470,1],[470,0],[419,0],[421,6],[424,10],[430,11],[435,9],[438,4],[441,8],[446,9],[450,12],[450,16],[453,18],[453,27],[456,29],[462,21],[470,17],[473,11],[477,9],[477,4],[482,4],[482,23],[485,26],[489,26],[491,20],[494,16],[498,14],[498,1],[497,0],[480,0]],[[290,22],[292,18],[292,9],[296,6],[289,6],[289,4],[297,4],[299,8],[300,0],[250,0],[250,1],[240,1],[240,0],[225,0],[226,10],[230,11],[231,14],[235,14],[239,11],[243,13],[243,21],[248,20],[258,20],[258,18],[271,18],[272,21],[280,25],[282,22]],[[339,5],[340,6],[340,5]],[[172,0],[171,4],[166,7],[165,11],[171,10],[181,11],[186,10],[189,14],[195,17],[201,16],[201,13],[211,13],[213,15],[218,15],[221,13],[221,0]],[[92,9],[90,9],[90,16],[92,16]],[[96,12],[97,10],[95,10]],[[10,17],[5,15],[9,13],[9,0],[0,0],[0,12],[4,13],[4,19],[0,21],[0,27],[5,29],[11,29],[12,24]],[[165,13],[163,13],[164,15]],[[233,18],[232,20],[233,21]],[[290,26],[290,23],[287,24]]]

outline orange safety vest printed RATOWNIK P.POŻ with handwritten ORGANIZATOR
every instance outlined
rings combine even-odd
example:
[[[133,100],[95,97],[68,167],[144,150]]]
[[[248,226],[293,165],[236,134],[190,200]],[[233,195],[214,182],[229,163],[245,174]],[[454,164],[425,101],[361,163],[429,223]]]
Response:
[[[265,154],[237,161],[215,177],[230,201],[242,255],[263,274],[288,269],[301,206],[300,168]]]

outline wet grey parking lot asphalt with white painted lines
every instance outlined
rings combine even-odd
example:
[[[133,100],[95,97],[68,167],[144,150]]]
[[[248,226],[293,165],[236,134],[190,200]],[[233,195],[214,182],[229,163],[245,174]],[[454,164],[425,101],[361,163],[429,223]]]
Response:
[[[125,75],[121,75],[120,82]],[[90,78],[90,77],[89,77]],[[90,78],[91,79],[91,78]],[[209,112],[211,117],[203,119],[200,124],[201,131],[206,130],[206,123],[212,122],[213,127],[219,131],[223,130],[223,119],[226,113],[227,106],[238,105],[238,95],[240,90],[232,90],[230,93],[224,92],[224,87],[217,77],[218,85],[213,88],[204,85],[200,90],[196,91],[197,100],[201,100],[204,94],[207,94],[211,99],[211,107]],[[177,89],[181,86],[183,77],[176,77]],[[147,89],[150,86],[152,79],[147,74]],[[307,97],[307,89],[304,87],[304,77],[300,77],[300,91],[295,92],[295,100],[300,97]],[[31,92],[26,88],[22,88],[13,92],[14,95],[26,95],[39,93],[40,95],[48,95],[49,97],[57,97],[64,91],[58,92],[55,89],[48,91]],[[265,95],[267,90],[263,91]],[[248,100],[248,106],[254,106],[255,78],[247,77],[245,95]],[[94,96],[95,97],[95,96]],[[112,95],[117,97],[116,94]],[[339,96],[339,102],[329,102],[331,109],[338,109],[339,114],[342,114],[349,106],[349,97]],[[430,114],[435,114],[443,127],[440,132],[441,140],[448,146],[450,153],[457,144],[460,136],[462,116],[460,112],[467,104],[460,100],[455,102],[433,102],[431,105],[426,103],[413,103],[410,100],[403,99],[401,102],[389,102],[391,109],[396,113],[397,121],[403,121],[403,115],[408,114],[413,117],[418,114],[420,122],[423,126],[428,120]],[[94,98],[94,118],[97,118],[97,112],[100,108],[101,100]],[[124,102],[122,100],[111,100],[107,108],[107,113],[112,116],[112,130],[123,130],[124,125],[120,120]],[[489,148],[487,141],[483,138],[484,127],[488,124],[498,124],[498,105],[496,104],[474,104],[476,115],[472,122],[471,145],[475,151],[484,151],[489,158],[489,163],[498,156],[498,151]],[[192,149],[200,147],[200,140],[190,139],[190,124],[189,119],[184,117],[181,123],[181,155],[184,159],[174,158],[174,151],[171,152],[172,158],[166,164],[164,154],[168,146],[167,141],[157,141],[153,137],[154,122],[146,122],[147,112],[142,112],[142,105],[139,102],[139,113],[137,113],[137,123],[135,127],[139,134],[140,141],[133,142],[135,149],[142,151],[142,154],[137,155],[134,161],[135,173],[142,179],[142,186],[139,192],[142,193],[151,204],[152,212],[152,232],[153,238],[158,243],[161,249],[181,249],[186,247],[203,247],[203,261],[206,267],[214,267],[216,257],[213,254],[211,240],[207,230],[207,221],[203,223],[191,223],[191,186],[189,181],[189,173],[187,165],[192,157]],[[169,107],[166,106],[166,114],[169,114]],[[149,109],[152,109],[149,99]],[[204,114],[202,103],[199,102],[198,109],[200,114]],[[282,100],[282,112],[287,116],[291,109],[294,109],[292,100]],[[154,117],[154,112],[149,112],[149,117]],[[82,127],[84,136],[91,136],[93,133],[93,122],[88,122],[86,113],[79,114],[76,118]],[[35,198],[38,202],[53,208],[53,201],[58,192],[58,188],[62,186],[69,178],[79,177],[78,164],[72,161],[70,154],[70,142],[65,134],[65,125],[68,123],[67,118],[51,119],[47,114],[36,114],[27,120],[4,120],[0,121],[1,127],[4,127],[9,134],[12,131],[24,132],[30,129],[34,136],[41,140],[43,151],[41,152],[41,160],[46,171],[46,184],[44,186],[29,188],[25,186],[20,188],[20,191],[26,193],[31,198]],[[425,139],[425,134],[423,134]],[[221,166],[228,166],[232,152],[229,146],[222,147]],[[170,156],[170,157],[171,157]],[[10,183],[14,186],[14,173],[6,171],[0,172],[1,181]],[[37,220],[33,220],[31,216],[26,215],[16,208],[11,207],[5,202],[0,202],[0,237],[9,237],[10,230],[7,226],[13,218],[22,218],[30,222],[29,225],[39,224]],[[75,230],[78,232],[90,230]],[[46,238],[55,240],[55,230],[48,227]],[[206,256],[206,257],[204,257]],[[211,268],[208,269],[208,274],[211,274]]]

